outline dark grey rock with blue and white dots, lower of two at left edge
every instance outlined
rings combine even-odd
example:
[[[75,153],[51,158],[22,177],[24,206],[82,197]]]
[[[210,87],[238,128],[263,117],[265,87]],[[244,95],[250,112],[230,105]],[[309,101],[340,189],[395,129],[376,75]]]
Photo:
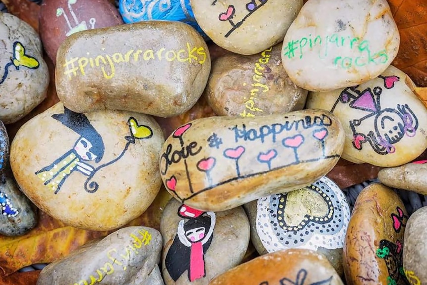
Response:
[[[0,234],[23,235],[37,225],[37,209],[18,189],[10,169],[3,178],[0,181]]]

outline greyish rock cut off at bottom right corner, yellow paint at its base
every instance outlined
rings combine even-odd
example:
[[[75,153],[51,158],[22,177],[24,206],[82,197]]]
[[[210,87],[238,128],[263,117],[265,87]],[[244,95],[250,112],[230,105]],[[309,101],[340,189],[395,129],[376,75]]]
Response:
[[[412,213],[405,229],[403,247],[403,267],[405,275],[412,285],[427,283],[427,207]]]

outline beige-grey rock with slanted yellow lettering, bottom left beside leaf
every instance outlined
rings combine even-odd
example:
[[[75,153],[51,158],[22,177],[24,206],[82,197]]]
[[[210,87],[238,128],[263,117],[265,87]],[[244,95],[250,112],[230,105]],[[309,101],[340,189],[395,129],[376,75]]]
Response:
[[[161,244],[160,232],[153,228],[122,228],[46,266],[37,285],[163,285]]]

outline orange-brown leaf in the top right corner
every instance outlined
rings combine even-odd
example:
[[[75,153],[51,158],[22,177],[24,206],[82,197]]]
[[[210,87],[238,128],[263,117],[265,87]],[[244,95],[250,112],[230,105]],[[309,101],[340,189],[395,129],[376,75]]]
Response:
[[[427,1],[388,0],[399,27],[400,48],[393,65],[427,87]]]

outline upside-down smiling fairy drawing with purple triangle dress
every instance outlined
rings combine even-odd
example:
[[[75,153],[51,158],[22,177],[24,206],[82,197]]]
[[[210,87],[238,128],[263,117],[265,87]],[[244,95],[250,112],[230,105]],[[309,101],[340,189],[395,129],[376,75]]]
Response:
[[[384,88],[394,88],[394,82],[399,81],[397,76],[381,77],[384,79]],[[333,113],[339,103],[348,104],[350,108],[365,112],[360,118],[351,120],[350,129],[353,132],[353,146],[362,150],[363,144],[368,142],[372,149],[380,154],[394,153],[394,144],[403,137],[413,137],[418,129],[418,119],[408,104],[397,104],[396,108],[381,108],[381,94],[383,87],[360,90],[359,86],[345,88],[334,106]],[[365,133],[363,124],[370,122],[374,129]]]

